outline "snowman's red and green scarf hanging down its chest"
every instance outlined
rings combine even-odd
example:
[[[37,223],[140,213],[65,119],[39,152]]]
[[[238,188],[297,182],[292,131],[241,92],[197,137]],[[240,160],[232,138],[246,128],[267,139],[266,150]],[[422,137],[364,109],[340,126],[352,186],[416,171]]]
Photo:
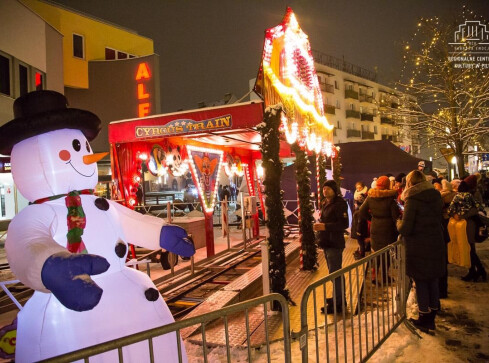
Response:
[[[38,199],[32,203],[41,204],[49,200],[65,197],[65,204],[68,207],[68,233],[66,234],[68,244],[66,248],[71,253],[87,253],[87,248],[81,238],[87,219],[81,205],[80,194],[93,194],[93,189],[74,190],[68,194],[53,195],[52,197]]]

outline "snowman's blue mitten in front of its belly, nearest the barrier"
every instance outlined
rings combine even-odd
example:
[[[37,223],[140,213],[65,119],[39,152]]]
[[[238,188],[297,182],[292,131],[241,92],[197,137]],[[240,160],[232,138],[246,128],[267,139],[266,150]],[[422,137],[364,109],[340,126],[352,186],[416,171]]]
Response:
[[[41,280],[54,296],[68,309],[93,309],[102,297],[102,289],[90,278],[109,268],[109,262],[97,255],[55,253],[41,271]]]

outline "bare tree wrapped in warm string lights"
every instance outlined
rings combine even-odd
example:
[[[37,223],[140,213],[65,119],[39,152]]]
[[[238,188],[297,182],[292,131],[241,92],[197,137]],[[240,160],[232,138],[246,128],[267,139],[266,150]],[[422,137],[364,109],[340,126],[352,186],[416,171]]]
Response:
[[[485,22],[465,7],[452,21],[421,19],[404,44],[397,87],[404,96],[397,107],[383,107],[398,126],[406,126],[428,146],[448,148],[457,157],[461,176],[467,155],[489,149],[489,60],[471,58],[481,45],[460,31],[466,24],[484,28]]]

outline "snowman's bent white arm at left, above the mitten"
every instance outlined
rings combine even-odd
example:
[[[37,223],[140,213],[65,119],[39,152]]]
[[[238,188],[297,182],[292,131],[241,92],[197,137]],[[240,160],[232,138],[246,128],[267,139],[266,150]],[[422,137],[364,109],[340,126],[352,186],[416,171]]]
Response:
[[[34,290],[49,292],[41,281],[41,271],[53,254],[64,252],[53,234],[57,218],[47,204],[30,205],[14,217],[9,225],[5,250],[15,276]]]

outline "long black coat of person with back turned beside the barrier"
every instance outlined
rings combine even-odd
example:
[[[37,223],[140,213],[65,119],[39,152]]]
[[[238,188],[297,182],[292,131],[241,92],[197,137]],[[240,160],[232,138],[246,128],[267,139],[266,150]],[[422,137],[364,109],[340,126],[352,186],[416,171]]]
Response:
[[[424,181],[403,196],[406,203],[398,227],[406,244],[406,274],[419,280],[441,277],[446,269],[441,195]]]

